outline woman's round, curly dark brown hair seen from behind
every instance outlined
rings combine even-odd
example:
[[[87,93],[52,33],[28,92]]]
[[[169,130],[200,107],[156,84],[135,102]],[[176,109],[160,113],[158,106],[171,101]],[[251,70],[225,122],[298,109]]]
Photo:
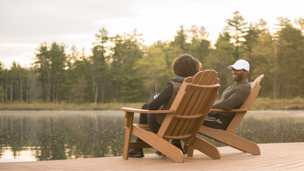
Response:
[[[172,63],[172,72],[181,77],[192,77],[200,71],[202,64],[192,55],[181,54]]]

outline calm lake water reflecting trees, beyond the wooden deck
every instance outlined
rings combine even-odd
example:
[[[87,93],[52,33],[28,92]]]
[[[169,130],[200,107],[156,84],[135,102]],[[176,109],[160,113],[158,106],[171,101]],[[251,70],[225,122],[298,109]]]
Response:
[[[122,111],[0,111],[0,162],[119,156],[124,122]],[[235,134],[255,143],[304,142],[304,110],[248,111]]]

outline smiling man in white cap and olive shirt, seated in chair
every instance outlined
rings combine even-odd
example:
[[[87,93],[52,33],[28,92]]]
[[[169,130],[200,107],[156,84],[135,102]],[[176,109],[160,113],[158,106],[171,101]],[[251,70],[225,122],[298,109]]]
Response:
[[[249,63],[243,59],[228,66],[232,70],[233,80],[236,81],[222,94],[222,99],[213,104],[212,109],[232,110],[239,109],[251,91],[247,75]],[[206,117],[203,125],[206,127],[226,130],[236,112],[211,112]]]

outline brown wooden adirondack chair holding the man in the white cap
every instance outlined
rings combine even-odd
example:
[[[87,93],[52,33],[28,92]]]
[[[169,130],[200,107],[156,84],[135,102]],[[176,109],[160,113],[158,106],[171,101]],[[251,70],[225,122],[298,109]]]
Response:
[[[260,75],[254,80],[254,82],[250,83],[251,85],[250,94],[248,95],[247,99],[244,101],[240,109],[235,109],[235,110],[211,109],[211,111],[215,111],[215,112],[237,112],[225,131],[220,129],[209,128],[206,126],[201,126],[201,128],[199,129],[199,134],[212,138],[225,145],[229,145],[230,147],[236,148],[240,151],[248,152],[253,155],[260,155],[261,154],[260,148],[257,146],[257,144],[249,140],[246,140],[244,138],[241,138],[233,134],[233,132],[237,129],[237,126],[240,124],[244,115],[247,113],[247,110],[250,108],[254,99],[257,97],[259,90],[261,89],[261,86],[259,84],[263,79],[263,77],[264,75]],[[206,146],[207,145],[208,144],[206,144]],[[188,156],[193,156],[193,147],[190,146],[188,148],[187,145],[184,145],[184,150],[185,151],[188,150]]]

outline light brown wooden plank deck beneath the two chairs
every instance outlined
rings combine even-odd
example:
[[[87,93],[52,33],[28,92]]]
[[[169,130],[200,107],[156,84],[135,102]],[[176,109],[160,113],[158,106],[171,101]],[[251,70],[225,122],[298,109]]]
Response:
[[[258,144],[261,155],[220,147],[221,159],[213,160],[195,150],[185,163],[148,154],[143,158],[122,156],[93,159],[0,163],[0,170],[304,170],[304,142]]]

